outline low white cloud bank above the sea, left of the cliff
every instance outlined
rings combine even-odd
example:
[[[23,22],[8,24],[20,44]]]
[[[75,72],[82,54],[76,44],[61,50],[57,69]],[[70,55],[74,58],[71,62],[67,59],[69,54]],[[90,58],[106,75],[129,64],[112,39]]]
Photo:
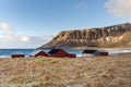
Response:
[[[0,34],[0,48],[37,48],[50,41],[55,36],[27,36]]]

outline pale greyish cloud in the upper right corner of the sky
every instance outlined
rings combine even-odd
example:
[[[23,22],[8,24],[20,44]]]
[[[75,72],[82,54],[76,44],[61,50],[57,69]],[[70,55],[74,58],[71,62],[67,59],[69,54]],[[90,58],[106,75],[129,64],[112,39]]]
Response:
[[[131,16],[131,0],[109,0],[105,5],[116,16]]]

